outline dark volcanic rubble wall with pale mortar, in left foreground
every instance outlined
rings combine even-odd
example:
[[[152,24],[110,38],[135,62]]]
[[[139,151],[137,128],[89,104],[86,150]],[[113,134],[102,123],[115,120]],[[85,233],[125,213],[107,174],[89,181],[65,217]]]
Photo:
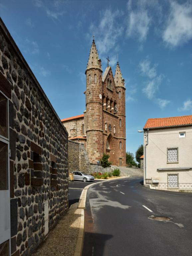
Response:
[[[0,19],[0,93],[9,99],[11,255],[31,255],[68,209],[68,133]]]

